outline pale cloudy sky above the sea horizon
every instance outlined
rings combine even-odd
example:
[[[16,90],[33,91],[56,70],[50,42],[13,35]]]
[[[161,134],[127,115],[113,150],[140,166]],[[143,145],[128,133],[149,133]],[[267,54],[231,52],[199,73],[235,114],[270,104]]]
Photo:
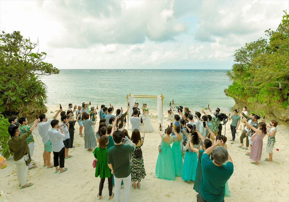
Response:
[[[289,1],[0,1],[0,31],[58,69],[231,69]]]

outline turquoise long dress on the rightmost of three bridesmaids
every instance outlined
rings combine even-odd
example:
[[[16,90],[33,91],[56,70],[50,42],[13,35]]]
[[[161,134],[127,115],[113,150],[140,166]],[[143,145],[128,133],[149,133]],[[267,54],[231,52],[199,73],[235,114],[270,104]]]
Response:
[[[193,145],[194,148],[197,148],[198,145]],[[186,151],[184,158],[184,166],[182,179],[184,181],[195,181],[196,179],[196,168],[198,163],[198,155],[196,152]]]

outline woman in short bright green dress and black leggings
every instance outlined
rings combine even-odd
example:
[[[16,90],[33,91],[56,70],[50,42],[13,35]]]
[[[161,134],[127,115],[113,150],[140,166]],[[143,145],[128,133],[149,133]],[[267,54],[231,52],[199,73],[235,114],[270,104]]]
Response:
[[[95,167],[95,177],[100,177],[99,183],[99,192],[97,194],[97,200],[101,199],[103,184],[105,182],[105,178],[108,179],[108,188],[109,188],[109,200],[113,198],[113,175],[111,174],[111,170],[107,164],[107,152],[106,148],[109,143],[109,138],[107,136],[102,136],[99,139],[99,147],[97,147],[93,154],[95,159],[97,160]]]

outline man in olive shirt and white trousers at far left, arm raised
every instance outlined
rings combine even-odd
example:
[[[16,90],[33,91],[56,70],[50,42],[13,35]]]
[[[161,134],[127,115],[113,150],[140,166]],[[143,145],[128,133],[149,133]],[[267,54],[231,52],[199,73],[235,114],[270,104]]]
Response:
[[[18,183],[21,185],[21,188],[31,187],[33,183],[27,183],[27,171],[28,165],[25,161],[30,158],[30,151],[26,138],[31,135],[33,129],[37,126],[40,119],[36,119],[33,126],[30,127],[26,133],[20,135],[20,129],[18,126],[10,127],[8,132],[11,138],[8,141],[8,146],[10,151],[13,153],[13,159],[16,163],[17,168],[17,179]]]

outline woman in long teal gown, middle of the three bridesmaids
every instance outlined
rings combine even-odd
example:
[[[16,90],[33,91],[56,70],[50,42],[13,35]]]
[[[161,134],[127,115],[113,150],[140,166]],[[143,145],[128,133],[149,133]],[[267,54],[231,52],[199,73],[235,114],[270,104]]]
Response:
[[[172,128],[172,131],[176,134],[173,136],[174,142],[172,143],[172,156],[174,158],[175,164],[175,176],[181,177],[183,172],[183,156],[180,143],[183,139],[183,135],[180,134],[179,125],[177,125],[175,129]]]

